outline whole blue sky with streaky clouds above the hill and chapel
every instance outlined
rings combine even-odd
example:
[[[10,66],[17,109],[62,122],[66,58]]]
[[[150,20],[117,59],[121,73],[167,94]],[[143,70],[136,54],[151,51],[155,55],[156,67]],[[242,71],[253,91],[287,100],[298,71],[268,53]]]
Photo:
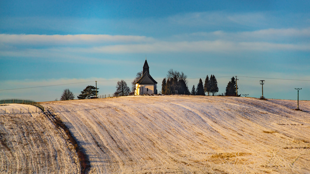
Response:
[[[95,80],[99,95],[112,94],[146,56],[158,91],[172,68],[188,75],[190,90],[214,74],[224,93],[237,75],[242,94],[259,97],[265,80],[267,98],[296,100],[302,88],[310,100],[309,9],[309,1],[4,0],[0,98],[51,101]],[[75,84],[38,87],[67,83]],[[5,90],[15,88],[26,89]]]

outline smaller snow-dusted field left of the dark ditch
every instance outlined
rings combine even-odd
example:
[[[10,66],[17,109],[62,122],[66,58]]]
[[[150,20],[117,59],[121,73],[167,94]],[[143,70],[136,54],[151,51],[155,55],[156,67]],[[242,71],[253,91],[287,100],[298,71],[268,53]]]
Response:
[[[38,113],[23,113],[23,112]],[[0,173],[78,173],[65,134],[35,106],[0,105]],[[11,114],[4,114],[6,113]],[[14,114],[13,114],[14,111]],[[21,113],[20,113],[21,111]],[[16,113],[18,112],[18,113]],[[78,164],[78,165],[77,165]]]

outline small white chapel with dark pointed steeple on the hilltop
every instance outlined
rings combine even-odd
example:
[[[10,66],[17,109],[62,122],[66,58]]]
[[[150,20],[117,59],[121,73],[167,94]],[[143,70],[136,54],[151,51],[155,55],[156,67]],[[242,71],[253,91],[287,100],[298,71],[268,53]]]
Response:
[[[150,75],[148,62],[146,61],[143,65],[142,77],[136,83],[135,95],[143,94],[157,94],[156,85],[157,82]]]

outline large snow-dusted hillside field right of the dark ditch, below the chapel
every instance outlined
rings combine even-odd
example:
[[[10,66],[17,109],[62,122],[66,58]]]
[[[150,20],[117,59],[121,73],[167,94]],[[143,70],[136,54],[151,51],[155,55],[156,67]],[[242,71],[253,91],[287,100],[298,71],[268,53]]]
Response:
[[[310,173],[310,101],[299,102],[303,111],[293,110],[297,105],[293,100],[185,95],[43,105],[65,122],[86,150],[89,173]],[[34,124],[39,116],[32,117]],[[41,125],[47,121],[38,120]],[[47,136],[50,129],[38,132],[44,131],[53,144],[59,138],[56,133]],[[29,139],[21,133],[15,136],[12,139]],[[18,142],[9,147],[21,148]],[[31,149],[37,144],[24,146]],[[55,148],[45,148],[50,146]],[[57,160],[53,164],[64,162]]]

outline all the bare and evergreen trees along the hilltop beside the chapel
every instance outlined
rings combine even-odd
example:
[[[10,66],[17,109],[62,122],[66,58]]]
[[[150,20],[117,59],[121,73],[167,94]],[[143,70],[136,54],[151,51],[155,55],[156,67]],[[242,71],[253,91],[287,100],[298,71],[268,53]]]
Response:
[[[126,96],[134,95],[135,83],[142,77],[142,71],[136,74],[135,79],[131,82],[131,89],[127,86],[127,83],[124,80],[118,81],[116,85],[116,91],[114,92],[115,96]],[[97,88],[97,95],[98,95]],[[236,79],[234,77],[228,82],[225,96],[237,96],[236,90],[238,89]],[[219,87],[215,75],[207,75],[205,83],[202,83],[201,78],[195,88],[193,85],[192,90],[188,90],[188,80],[187,75],[183,72],[175,71],[173,69],[168,70],[166,77],[162,80],[162,91],[164,95],[170,94],[185,94],[185,95],[216,95],[219,92]],[[87,86],[81,94],[77,97],[78,99],[90,99],[91,97],[96,96],[96,87]],[[241,96],[241,95],[238,95]],[[69,89],[65,89],[60,97],[60,100],[73,100],[74,94]]]

